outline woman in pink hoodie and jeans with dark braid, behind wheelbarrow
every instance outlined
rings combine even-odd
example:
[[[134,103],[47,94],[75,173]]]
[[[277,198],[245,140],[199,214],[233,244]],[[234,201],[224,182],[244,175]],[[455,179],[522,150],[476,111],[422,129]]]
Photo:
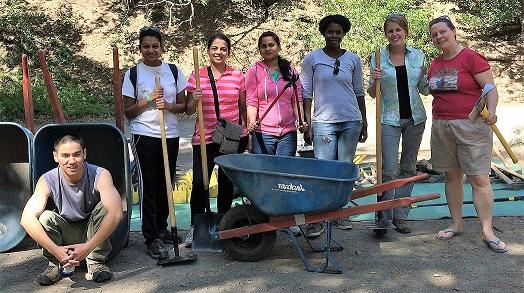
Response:
[[[298,73],[289,61],[278,54],[280,39],[274,32],[260,35],[258,49],[263,60],[249,68],[246,74],[247,122],[248,130],[253,133],[253,153],[294,156],[297,126],[300,131],[307,127],[305,123],[297,123],[303,121],[298,119],[298,113],[304,113],[300,90],[295,90],[300,89]],[[291,86],[286,87],[290,82]],[[278,101],[260,121],[281,92]]]

